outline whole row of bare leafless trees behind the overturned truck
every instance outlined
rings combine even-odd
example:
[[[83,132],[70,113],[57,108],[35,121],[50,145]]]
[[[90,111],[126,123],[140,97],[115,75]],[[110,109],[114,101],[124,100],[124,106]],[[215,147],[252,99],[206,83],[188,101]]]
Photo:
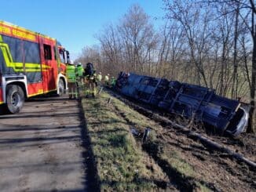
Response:
[[[93,61],[112,75],[135,71],[205,85],[221,96],[244,97],[243,101],[251,102],[248,131],[252,132],[256,121],[255,3],[163,2],[166,24],[159,31],[141,6],[132,5],[118,24],[97,34],[100,46],[83,49],[79,60]]]

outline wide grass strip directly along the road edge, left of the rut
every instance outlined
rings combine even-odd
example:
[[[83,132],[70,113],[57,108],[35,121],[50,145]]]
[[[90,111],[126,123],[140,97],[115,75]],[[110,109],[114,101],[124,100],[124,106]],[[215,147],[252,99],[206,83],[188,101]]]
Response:
[[[108,98],[101,92],[95,99],[82,100],[101,190],[158,190],[152,178],[166,176],[160,168],[155,167],[155,172],[146,168],[145,154],[131,135],[130,125],[113,106],[117,100],[108,103]]]

